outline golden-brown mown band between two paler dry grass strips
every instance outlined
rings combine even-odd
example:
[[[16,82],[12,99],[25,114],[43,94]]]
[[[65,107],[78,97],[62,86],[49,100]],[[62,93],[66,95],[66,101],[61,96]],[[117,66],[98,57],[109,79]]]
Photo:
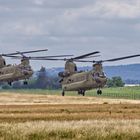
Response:
[[[139,104],[0,105],[0,122],[140,119]]]

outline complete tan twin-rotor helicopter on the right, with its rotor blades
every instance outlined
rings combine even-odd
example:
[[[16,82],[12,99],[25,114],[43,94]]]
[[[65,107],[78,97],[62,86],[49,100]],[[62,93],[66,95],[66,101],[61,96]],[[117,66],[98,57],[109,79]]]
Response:
[[[96,51],[70,59],[43,58],[42,60],[66,61],[64,72],[60,72],[58,74],[59,77],[61,78],[60,83],[62,85],[62,96],[65,95],[65,91],[77,91],[78,94],[85,96],[85,91],[90,89],[97,89],[97,94],[99,95],[102,94],[101,89],[106,85],[107,82],[107,77],[104,74],[102,63],[114,62],[140,56],[140,55],[131,55],[100,61],[83,60],[84,58],[95,57],[95,54],[98,53],[99,52]],[[77,71],[77,66],[74,62],[83,62],[83,63],[91,62],[93,63],[93,69],[90,71]]]

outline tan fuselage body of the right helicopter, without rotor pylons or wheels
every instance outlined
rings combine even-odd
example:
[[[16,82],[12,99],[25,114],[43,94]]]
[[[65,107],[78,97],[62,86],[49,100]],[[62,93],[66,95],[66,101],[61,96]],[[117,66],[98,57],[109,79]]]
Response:
[[[94,88],[103,88],[107,78],[104,75],[96,75],[93,71],[77,72],[62,80],[63,91],[86,91]]]

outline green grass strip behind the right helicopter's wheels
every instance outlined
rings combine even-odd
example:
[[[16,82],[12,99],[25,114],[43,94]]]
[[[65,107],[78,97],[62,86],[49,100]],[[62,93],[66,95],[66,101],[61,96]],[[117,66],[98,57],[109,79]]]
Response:
[[[86,92],[86,96],[98,96],[97,90]],[[24,90],[1,90],[0,92],[10,93],[27,93],[42,95],[61,95],[61,90],[42,90],[42,89],[24,89]],[[66,96],[77,96],[77,92],[66,92]],[[101,97],[107,98],[124,98],[124,99],[140,99],[140,86],[136,87],[120,87],[120,88],[103,88]]]

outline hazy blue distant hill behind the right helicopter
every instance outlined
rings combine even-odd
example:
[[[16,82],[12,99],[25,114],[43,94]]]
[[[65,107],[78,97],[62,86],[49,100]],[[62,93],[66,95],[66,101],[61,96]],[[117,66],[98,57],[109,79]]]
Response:
[[[92,67],[79,67],[78,70],[91,70]],[[57,76],[60,71],[64,71],[64,68],[51,68],[46,69],[47,75]],[[120,65],[120,66],[105,66],[104,71],[107,77],[121,76],[127,84],[139,84],[140,83],[140,64]]]

